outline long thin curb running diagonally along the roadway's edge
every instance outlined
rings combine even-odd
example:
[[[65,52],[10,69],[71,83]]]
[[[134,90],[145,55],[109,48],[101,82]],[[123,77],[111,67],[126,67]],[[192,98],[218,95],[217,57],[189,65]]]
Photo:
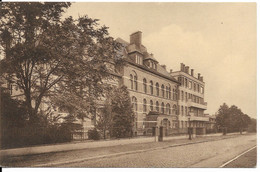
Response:
[[[229,138],[233,138],[233,137],[234,136],[231,136]],[[69,163],[77,163],[77,162],[83,162],[83,161],[89,161],[89,160],[95,160],[95,159],[101,159],[101,158],[115,157],[115,156],[120,156],[120,155],[129,155],[129,154],[142,153],[142,152],[148,152],[148,151],[154,151],[154,150],[160,150],[160,149],[167,149],[167,148],[171,148],[171,147],[179,147],[179,146],[186,146],[186,145],[192,145],[192,144],[198,144],[198,143],[212,142],[212,141],[224,140],[224,139],[229,139],[229,138],[218,138],[218,139],[213,139],[213,140],[174,144],[174,145],[164,146],[164,147],[142,149],[142,150],[135,150],[135,151],[128,151],[128,152],[120,152],[120,153],[114,153],[114,154],[108,154],[108,155],[99,155],[99,156],[94,156],[94,157],[76,159],[76,160],[72,160],[72,161],[37,164],[37,165],[32,165],[31,167],[50,167],[50,166],[56,166],[56,165],[64,165],[64,164],[69,164]]]

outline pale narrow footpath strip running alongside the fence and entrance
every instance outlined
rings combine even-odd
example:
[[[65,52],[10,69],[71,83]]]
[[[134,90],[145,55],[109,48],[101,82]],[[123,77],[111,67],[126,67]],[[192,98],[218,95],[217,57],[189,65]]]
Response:
[[[217,133],[217,134],[208,134],[205,136],[198,136],[198,137],[210,137],[210,136],[220,136],[220,135],[222,134]],[[187,138],[188,135],[171,136],[171,137],[164,137],[164,141],[187,139]],[[64,143],[64,144],[55,144],[55,145],[6,149],[0,151],[0,157],[33,155],[33,154],[42,154],[42,153],[51,153],[51,152],[80,150],[80,149],[87,149],[87,148],[111,147],[116,145],[127,145],[127,144],[135,144],[135,143],[149,143],[149,142],[155,142],[155,137],[129,138],[129,139],[117,139],[117,140],[105,140],[105,141],[102,140],[102,141],[91,141],[91,142],[88,141],[88,142],[77,142],[77,143],[74,142],[74,143]]]

